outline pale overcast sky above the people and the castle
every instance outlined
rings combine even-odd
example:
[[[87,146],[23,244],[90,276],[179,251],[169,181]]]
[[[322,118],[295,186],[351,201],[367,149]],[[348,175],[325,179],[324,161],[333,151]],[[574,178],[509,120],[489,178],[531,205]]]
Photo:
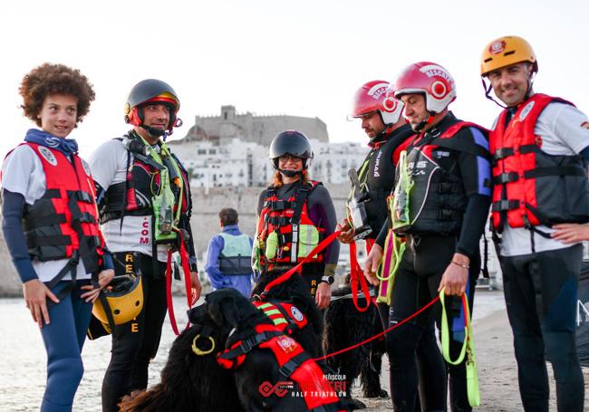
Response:
[[[137,81],[168,81],[185,125],[194,116],[237,112],[318,117],[332,141],[365,139],[346,114],[365,81],[392,81],[410,62],[432,61],[454,76],[463,120],[490,126],[499,108],[484,97],[479,58],[506,34],[532,44],[535,90],[589,112],[589,2],[230,0],[10,1],[0,15],[0,155],[33,123],[18,109],[24,74],[43,62],[80,69],[96,101],[71,137],[88,157],[128,128],[123,106]]]

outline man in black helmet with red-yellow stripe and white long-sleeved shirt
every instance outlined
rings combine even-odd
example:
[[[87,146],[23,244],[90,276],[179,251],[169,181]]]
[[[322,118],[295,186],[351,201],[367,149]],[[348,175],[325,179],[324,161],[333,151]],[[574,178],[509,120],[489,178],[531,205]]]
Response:
[[[115,257],[115,273],[140,273],[143,309],[112,331],[111,363],[102,382],[102,410],[117,411],[121,397],[147,388],[166,315],[169,254],[179,251],[200,295],[189,218],[188,173],[160,137],[181,124],[179,100],[164,81],[140,81],[130,91],[125,120],[133,126],[92,154],[101,227]]]

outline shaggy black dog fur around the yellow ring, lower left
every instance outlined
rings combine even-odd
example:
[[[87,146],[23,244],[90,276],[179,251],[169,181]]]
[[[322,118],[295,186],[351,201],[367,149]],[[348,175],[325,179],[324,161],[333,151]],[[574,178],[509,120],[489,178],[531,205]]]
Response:
[[[176,411],[240,411],[237,388],[230,370],[222,369],[215,357],[223,349],[219,334],[209,328],[216,349],[208,355],[197,355],[191,347],[194,338],[203,331],[195,324],[183,331],[169,350],[166,366],[161,371],[161,382],[153,388],[123,399],[121,412],[176,412]],[[198,339],[198,348],[208,350],[208,339]]]

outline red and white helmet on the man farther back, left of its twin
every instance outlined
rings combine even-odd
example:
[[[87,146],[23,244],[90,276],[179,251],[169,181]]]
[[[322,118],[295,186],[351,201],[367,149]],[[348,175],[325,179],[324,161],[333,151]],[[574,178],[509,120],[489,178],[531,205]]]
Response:
[[[369,81],[364,84],[353,97],[352,118],[360,118],[373,111],[381,113],[384,124],[390,125],[399,121],[403,103],[391,94],[387,95],[388,81]]]

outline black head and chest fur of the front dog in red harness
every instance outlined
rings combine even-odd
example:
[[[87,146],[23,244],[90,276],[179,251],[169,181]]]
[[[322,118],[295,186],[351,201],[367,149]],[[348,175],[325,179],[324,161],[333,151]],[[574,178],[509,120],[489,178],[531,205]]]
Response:
[[[190,321],[213,321],[217,325],[220,340],[227,340],[231,347],[239,340],[246,340],[255,334],[256,325],[273,324],[264,313],[234,289],[222,289],[209,293],[206,303],[190,311]],[[270,350],[254,347],[243,364],[235,369],[237,393],[242,405],[251,411],[303,411],[306,410],[304,398],[291,396],[266,397],[260,393],[264,382],[275,384],[288,380],[281,375],[275,355]],[[342,406],[340,406],[343,409]]]

